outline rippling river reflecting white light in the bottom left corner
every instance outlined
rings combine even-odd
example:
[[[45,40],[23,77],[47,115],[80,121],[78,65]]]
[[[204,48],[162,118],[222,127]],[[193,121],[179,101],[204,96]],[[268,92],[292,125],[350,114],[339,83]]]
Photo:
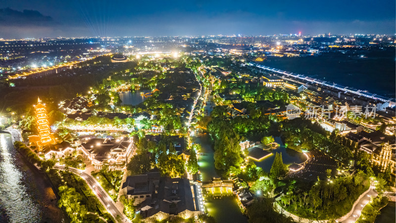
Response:
[[[0,223],[66,222],[50,183],[30,167],[0,133]]]

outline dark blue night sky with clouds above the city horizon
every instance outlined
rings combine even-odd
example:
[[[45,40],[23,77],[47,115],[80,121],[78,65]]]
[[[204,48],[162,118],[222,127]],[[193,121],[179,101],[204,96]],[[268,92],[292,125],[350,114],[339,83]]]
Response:
[[[0,38],[395,34],[395,0],[0,0]]]

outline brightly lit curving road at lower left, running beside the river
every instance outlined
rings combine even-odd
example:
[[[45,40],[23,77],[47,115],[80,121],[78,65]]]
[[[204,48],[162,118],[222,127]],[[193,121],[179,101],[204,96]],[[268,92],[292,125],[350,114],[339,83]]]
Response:
[[[64,169],[64,166],[56,165],[55,166],[58,169]],[[93,189],[94,194],[98,197],[98,199],[102,202],[102,204],[105,206],[107,211],[115,218],[117,215],[121,216],[122,222],[126,223],[131,223],[129,219],[124,215],[124,213],[121,213],[115,206],[114,201],[108,196],[106,191],[100,186],[98,181],[94,177],[92,177],[90,174],[84,172],[81,169],[76,169],[73,167],[69,167],[69,171],[76,173],[77,175],[80,175]]]

